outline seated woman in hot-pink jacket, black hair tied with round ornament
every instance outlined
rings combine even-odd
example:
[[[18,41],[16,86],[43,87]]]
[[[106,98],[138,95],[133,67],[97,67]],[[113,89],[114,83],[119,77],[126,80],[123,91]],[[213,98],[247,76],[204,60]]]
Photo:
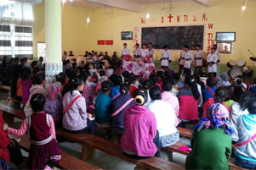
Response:
[[[160,157],[155,114],[145,107],[148,101],[147,91],[136,90],[134,100],[136,104],[128,107],[123,116],[122,150],[134,158]]]

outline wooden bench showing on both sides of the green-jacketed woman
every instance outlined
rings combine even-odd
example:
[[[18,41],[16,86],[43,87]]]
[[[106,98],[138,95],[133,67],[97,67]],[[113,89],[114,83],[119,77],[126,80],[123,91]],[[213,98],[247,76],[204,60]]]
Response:
[[[173,152],[177,152],[179,154],[182,154],[182,155],[185,155],[185,156],[189,156],[190,151],[180,151],[179,150],[179,147],[183,146],[183,145],[187,146],[187,144],[185,144],[185,143],[177,142],[174,145],[169,145],[168,147],[162,148],[162,150],[163,151],[169,151],[169,155],[168,155],[169,161],[173,161],[172,160],[172,158],[173,158],[172,153]],[[229,160],[228,164],[231,167],[231,169],[237,169],[237,170],[238,169],[244,169],[242,167],[238,167],[234,162],[231,162],[230,160]]]

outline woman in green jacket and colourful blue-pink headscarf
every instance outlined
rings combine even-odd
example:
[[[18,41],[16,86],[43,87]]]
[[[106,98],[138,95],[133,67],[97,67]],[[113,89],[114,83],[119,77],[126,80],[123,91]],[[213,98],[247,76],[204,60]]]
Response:
[[[201,118],[193,130],[185,169],[230,169],[233,129],[228,118],[223,105],[215,103],[208,108],[207,118]]]

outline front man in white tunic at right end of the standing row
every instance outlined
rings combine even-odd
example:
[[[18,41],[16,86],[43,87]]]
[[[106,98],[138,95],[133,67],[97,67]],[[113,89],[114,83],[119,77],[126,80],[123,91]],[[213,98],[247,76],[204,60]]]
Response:
[[[208,53],[208,73],[213,73],[213,77],[215,78],[217,75],[217,63],[218,56],[215,53],[216,48],[212,47],[211,52]]]

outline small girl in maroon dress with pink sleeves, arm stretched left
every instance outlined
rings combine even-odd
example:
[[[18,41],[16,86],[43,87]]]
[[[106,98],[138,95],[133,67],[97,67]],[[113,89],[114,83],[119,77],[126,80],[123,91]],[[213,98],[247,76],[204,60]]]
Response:
[[[43,111],[45,98],[41,94],[31,96],[33,113],[21,124],[20,129],[9,128],[4,124],[2,129],[8,134],[21,136],[30,130],[31,147],[29,152],[29,167],[31,169],[53,169],[60,162],[61,153],[56,141],[54,120]]]

